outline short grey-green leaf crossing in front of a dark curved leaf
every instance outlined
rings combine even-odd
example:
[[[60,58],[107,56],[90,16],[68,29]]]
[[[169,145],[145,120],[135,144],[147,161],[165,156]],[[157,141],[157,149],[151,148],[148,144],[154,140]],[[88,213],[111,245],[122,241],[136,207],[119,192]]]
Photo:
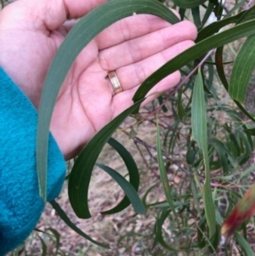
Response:
[[[137,191],[133,188],[127,179],[123,178],[121,174],[117,173],[114,169],[105,166],[104,164],[97,163],[99,168],[103,169],[107,174],[111,175],[111,178],[116,181],[118,185],[121,186],[122,190],[125,192],[129,201],[132,203],[133,209],[136,213],[146,214],[143,202],[140,200]]]

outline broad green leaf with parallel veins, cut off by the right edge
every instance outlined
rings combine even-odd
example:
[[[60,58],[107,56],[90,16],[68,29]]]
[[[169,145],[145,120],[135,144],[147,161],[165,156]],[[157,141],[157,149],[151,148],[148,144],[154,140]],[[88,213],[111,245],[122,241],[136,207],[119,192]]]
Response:
[[[246,90],[255,68],[255,35],[246,39],[235,58],[229,81],[229,94],[234,100],[243,103]]]

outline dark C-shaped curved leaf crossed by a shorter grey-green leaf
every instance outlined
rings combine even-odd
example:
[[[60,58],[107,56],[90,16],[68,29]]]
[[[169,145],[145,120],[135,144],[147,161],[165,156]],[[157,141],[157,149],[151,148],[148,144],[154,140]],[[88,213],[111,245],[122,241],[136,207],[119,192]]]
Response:
[[[139,170],[136,165],[136,163],[133,160],[133,157],[130,155],[130,153],[126,150],[126,148],[120,144],[116,139],[109,139],[108,144],[111,145],[122,157],[123,161],[126,164],[128,175],[129,175],[129,183],[133,185],[133,188],[135,191],[138,191],[139,189]],[[125,208],[127,208],[130,205],[130,201],[127,196],[125,196],[121,202],[116,205],[115,208],[112,208],[111,210],[101,212],[101,214],[112,214],[112,213],[119,213]]]

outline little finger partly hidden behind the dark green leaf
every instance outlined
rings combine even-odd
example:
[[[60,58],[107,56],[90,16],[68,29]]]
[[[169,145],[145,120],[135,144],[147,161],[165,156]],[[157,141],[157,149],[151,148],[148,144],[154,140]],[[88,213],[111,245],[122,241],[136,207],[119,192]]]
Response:
[[[180,81],[181,75],[179,71],[173,72],[170,76],[162,79],[160,82],[156,84],[154,88],[150,90],[148,94],[146,94],[145,97],[147,97],[146,100],[143,101],[142,107],[152,100],[155,100],[157,97],[159,97],[163,92],[166,92],[170,88],[173,88],[178,84]],[[125,109],[127,109],[129,106],[133,105],[133,95],[137,91],[139,86],[136,86],[135,88],[132,88],[130,90],[124,91],[120,94],[116,94],[113,97],[112,105],[114,111],[114,117],[122,113]]]

